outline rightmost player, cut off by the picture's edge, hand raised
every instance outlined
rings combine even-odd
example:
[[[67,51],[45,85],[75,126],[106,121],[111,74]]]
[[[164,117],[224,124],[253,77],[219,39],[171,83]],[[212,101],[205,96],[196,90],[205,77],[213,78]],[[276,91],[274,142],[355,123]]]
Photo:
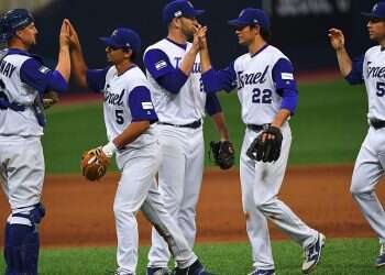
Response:
[[[372,41],[378,43],[363,56],[351,59],[345,50],[342,31],[329,30],[329,38],[336,50],[342,76],[351,85],[364,82],[369,99],[369,131],[356,157],[350,191],[361,211],[380,239],[380,254],[375,266],[385,265],[385,212],[375,194],[375,187],[385,168],[385,2],[378,2],[369,18],[367,31]]]

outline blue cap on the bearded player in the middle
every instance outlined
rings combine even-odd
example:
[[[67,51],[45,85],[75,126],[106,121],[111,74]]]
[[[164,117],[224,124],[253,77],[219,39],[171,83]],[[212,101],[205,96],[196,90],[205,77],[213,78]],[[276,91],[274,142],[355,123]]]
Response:
[[[174,18],[196,18],[205,13],[205,10],[196,10],[190,1],[175,0],[163,8],[163,22],[168,24]]]

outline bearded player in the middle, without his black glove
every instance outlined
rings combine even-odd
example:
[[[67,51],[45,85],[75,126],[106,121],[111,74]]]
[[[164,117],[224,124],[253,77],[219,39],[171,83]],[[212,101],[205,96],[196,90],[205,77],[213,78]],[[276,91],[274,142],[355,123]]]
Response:
[[[217,97],[206,96],[200,80],[199,45],[194,34],[199,28],[197,16],[201,13],[202,10],[194,9],[186,0],[167,3],[163,22],[168,28],[168,35],[144,53],[146,75],[160,118],[160,190],[166,209],[177,219],[190,248],[196,237],[196,206],[204,170],[205,109],[213,119],[221,140],[229,140],[220,103]],[[168,260],[167,245],[153,229],[147,274],[168,274]]]

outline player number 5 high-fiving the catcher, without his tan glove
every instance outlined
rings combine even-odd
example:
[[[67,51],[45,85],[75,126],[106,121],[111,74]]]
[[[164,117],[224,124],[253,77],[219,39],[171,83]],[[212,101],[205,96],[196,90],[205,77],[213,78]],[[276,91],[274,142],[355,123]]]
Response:
[[[136,212],[142,210],[167,242],[177,262],[175,274],[206,275],[205,267],[189,248],[175,220],[166,211],[157,190],[155,174],[161,154],[154,122],[157,121],[150,85],[134,64],[141,52],[141,38],[132,30],[116,29],[106,44],[112,66],[88,69],[77,33],[70,25],[72,61],[75,76],[82,87],[105,96],[103,113],[109,142],[102,146],[107,157],[117,154],[121,170],[113,202],[118,251],[114,274],[135,274],[138,264]]]

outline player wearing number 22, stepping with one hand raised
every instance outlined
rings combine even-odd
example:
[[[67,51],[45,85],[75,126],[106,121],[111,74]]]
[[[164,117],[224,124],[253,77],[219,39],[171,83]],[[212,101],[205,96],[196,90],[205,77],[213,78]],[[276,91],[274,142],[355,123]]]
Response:
[[[242,120],[246,124],[240,160],[242,205],[248,235],[253,250],[253,275],[275,273],[266,218],[297,242],[305,252],[302,272],[312,271],[321,257],[324,235],[306,226],[282,200],[283,183],[292,143],[288,119],[297,106],[297,88],[290,61],[268,45],[270,19],[258,9],[246,8],[238,19],[230,20],[239,44],[249,52],[223,70],[211,67],[205,30],[199,33],[202,82],[206,92],[238,90]],[[260,136],[261,135],[261,136]],[[279,138],[280,136],[280,138]],[[263,144],[280,139],[278,147]],[[256,142],[260,154],[277,152],[275,162],[254,161],[249,153]],[[280,152],[280,155],[279,155]]]

